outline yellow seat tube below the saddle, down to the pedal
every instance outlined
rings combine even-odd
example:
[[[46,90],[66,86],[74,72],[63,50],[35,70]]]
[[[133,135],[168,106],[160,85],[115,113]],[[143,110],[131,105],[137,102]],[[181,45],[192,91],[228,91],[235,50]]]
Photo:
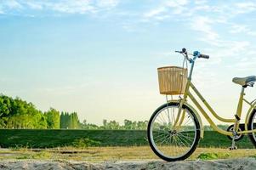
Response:
[[[236,150],[237,149],[235,139],[236,139],[236,136],[237,136],[237,132],[238,132],[239,124],[240,124],[240,120],[241,120],[242,100],[243,100],[243,96],[245,95],[244,94],[244,88],[245,87],[242,87],[239,102],[238,102],[238,105],[237,105],[237,110],[236,110],[236,115],[235,115],[236,122],[234,123],[234,128],[233,128],[233,132],[232,132],[233,138],[232,138],[232,144],[231,144],[230,150]]]

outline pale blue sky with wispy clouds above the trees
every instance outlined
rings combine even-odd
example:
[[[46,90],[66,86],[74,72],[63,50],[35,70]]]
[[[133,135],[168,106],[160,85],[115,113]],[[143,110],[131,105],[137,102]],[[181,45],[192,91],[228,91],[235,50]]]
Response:
[[[0,89],[97,124],[148,120],[165,101],[156,68],[185,47],[210,55],[193,82],[230,117],[231,79],[256,75],[255,21],[256,1],[0,0]]]

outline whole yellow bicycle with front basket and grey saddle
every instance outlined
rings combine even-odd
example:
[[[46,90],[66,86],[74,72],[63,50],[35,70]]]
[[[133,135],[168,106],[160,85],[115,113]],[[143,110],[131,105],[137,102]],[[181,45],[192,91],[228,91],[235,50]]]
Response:
[[[198,51],[188,54],[185,48],[175,52],[183,54],[183,67],[169,66],[158,68],[158,79],[161,94],[179,94],[179,99],[168,100],[167,97],[167,103],[156,109],[147,127],[149,144],[156,156],[159,156],[165,161],[185,160],[196,150],[199,140],[203,138],[202,119],[196,109],[189,104],[188,99],[196,105],[196,108],[206,118],[211,127],[213,127],[213,130],[225,134],[232,139],[230,150],[237,149],[236,141],[241,139],[243,134],[248,134],[252,143],[256,146],[256,99],[249,102],[243,97],[245,95],[245,88],[253,87],[256,77],[233,78],[232,82],[241,85],[242,90],[235,118],[226,119],[213,111],[213,108],[191,82],[196,59],[209,59],[209,56],[201,54]],[[192,57],[190,58],[189,55]],[[191,64],[189,74],[187,74],[188,69],[184,67],[187,62]],[[221,122],[232,123],[227,131],[216,126],[207,112],[202,108],[202,105],[198,103],[195,96],[191,94],[191,90],[215,118]],[[181,97],[181,94],[183,94],[183,97]],[[241,123],[243,102],[250,105],[250,108],[247,111],[245,122]]]

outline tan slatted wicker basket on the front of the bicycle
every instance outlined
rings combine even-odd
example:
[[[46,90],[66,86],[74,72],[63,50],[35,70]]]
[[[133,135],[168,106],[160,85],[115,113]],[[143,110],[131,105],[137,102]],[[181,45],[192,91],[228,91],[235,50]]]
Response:
[[[157,69],[160,94],[184,94],[187,82],[187,69],[166,66]]]

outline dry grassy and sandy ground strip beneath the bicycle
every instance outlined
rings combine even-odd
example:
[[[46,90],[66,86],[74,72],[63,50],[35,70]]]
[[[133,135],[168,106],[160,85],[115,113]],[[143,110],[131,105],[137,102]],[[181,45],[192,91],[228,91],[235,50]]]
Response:
[[[256,150],[197,148],[186,161],[159,159],[148,146],[0,149],[0,170],[36,169],[256,169]]]

